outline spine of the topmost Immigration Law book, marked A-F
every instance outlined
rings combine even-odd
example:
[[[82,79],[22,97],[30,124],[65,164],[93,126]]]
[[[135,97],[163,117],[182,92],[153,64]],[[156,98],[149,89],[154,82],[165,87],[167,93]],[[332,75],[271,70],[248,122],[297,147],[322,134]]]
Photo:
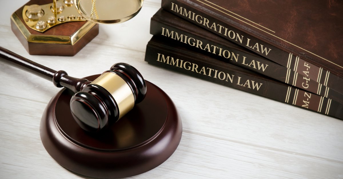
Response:
[[[203,8],[187,0],[162,0],[163,9],[343,94],[343,79],[337,75],[226,24],[213,15],[215,12],[212,12],[211,16],[193,7]]]

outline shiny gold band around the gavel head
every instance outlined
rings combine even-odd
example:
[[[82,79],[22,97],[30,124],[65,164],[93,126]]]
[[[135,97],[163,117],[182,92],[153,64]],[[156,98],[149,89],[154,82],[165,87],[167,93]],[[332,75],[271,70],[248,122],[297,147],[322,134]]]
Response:
[[[134,97],[130,86],[116,73],[105,72],[91,84],[105,88],[115,99],[119,110],[119,119],[134,106]]]

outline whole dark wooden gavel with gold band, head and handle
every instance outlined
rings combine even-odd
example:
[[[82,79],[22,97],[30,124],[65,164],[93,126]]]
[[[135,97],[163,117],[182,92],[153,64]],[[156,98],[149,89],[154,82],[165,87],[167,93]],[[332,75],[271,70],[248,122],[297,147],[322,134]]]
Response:
[[[58,87],[66,87],[75,94],[70,100],[70,111],[78,125],[89,132],[98,132],[117,122],[146,94],[142,75],[133,66],[116,63],[94,81],[68,76],[0,47],[0,61],[23,69]]]

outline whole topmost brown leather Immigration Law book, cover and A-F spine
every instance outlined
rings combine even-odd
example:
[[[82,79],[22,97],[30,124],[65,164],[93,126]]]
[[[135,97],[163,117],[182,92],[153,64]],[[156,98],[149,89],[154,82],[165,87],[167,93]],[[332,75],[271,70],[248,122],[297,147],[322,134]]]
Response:
[[[162,0],[162,8],[343,93],[343,1]]]

